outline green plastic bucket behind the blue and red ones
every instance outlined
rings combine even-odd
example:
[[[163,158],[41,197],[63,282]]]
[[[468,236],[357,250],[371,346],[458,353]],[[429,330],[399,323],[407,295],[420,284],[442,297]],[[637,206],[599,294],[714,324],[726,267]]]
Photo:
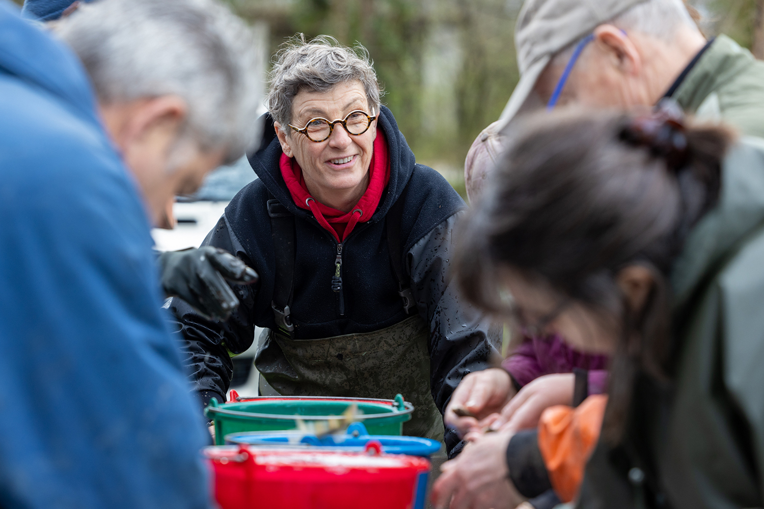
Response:
[[[342,417],[351,404],[358,405],[352,420],[362,421],[370,435],[400,435],[403,423],[411,419],[413,404],[395,399],[332,398],[321,396],[261,396],[238,398],[219,404],[212,398],[204,414],[215,422],[215,443],[225,445],[225,436],[243,431],[283,431],[298,429],[303,422],[329,421]],[[295,419],[294,416],[299,416]]]

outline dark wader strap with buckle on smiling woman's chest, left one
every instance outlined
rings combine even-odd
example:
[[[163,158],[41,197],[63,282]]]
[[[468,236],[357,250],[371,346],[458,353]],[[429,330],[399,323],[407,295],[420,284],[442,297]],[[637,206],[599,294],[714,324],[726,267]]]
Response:
[[[295,234],[294,216],[278,200],[268,200],[270,234],[274,239],[276,274],[274,278],[274,300],[270,307],[280,332],[293,337],[294,324],[290,318],[293,299]]]

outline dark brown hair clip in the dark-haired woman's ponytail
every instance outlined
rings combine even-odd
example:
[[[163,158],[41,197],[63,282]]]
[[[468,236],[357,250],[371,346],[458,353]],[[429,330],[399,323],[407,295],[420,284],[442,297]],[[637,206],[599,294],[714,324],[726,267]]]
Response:
[[[672,171],[687,163],[689,150],[684,115],[673,102],[661,101],[652,114],[633,118],[620,133],[620,140],[646,147],[654,157],[665,159]]]

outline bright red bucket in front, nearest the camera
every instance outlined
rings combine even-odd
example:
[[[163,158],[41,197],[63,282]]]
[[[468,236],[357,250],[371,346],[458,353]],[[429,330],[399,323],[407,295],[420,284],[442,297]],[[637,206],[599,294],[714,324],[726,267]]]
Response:
[[[222,509],[422,509],[430,467],[373,442],[366,453],[213,446],[205,455]]]

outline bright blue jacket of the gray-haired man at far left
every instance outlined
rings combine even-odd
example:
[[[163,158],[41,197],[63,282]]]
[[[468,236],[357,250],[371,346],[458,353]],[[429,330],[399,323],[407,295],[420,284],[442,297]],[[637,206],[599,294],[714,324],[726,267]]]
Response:
[[[0,507],[209,507],[151,247],[76,56],[0,0]]]

